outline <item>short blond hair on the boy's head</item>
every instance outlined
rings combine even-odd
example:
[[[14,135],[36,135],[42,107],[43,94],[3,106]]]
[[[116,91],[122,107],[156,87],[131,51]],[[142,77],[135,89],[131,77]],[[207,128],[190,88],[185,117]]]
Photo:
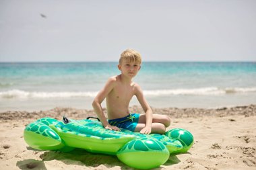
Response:
[[[129,62],[135,62],[141,64],[141,54],[133,49],[127,49],[122,52],[119,58],[119,64],[123,62],[123,60],[128,60]]]

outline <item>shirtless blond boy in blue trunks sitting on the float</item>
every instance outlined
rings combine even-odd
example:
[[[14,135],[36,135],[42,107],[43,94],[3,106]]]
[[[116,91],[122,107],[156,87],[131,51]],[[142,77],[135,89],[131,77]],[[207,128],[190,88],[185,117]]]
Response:
[[[104,88],[96,95],[92,106],[104,128],[125,128],[141,134],[164,134],[170,125],[168,116],[152,114],[152,110],[139,85],[132,81],[141,68],[141,55],[131,49],[125,50],[119,59],[121,75],[110,77]],[[130,114],[129,102],[135,95],[146,114]],[[108,120],[102,112],[101,103],[106,98]]]

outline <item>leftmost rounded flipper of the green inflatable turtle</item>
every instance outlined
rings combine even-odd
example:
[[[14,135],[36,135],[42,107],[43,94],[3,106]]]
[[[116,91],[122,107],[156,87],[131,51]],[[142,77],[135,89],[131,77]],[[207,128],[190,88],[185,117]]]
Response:
[[[57,120],[56,120],[57,121]],[[42,118],[28,124],[24,130],[24,140],[32,148],[40,150],[58,150],[64,147],[59,134],[52,130],[47,122],[54,122],[54,119]]]

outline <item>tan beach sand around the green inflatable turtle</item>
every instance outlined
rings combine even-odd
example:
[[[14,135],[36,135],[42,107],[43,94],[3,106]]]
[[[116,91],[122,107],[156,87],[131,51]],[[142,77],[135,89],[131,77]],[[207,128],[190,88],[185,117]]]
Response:
[[[133,112],[141,108],[133,106]],[[171,128],[185,128],[195,144],[188,153],[170,155],[157,169],[256,169],[256,105],[233,108],[153,108],[154,113],[170,116]],[[38,151],[26,144],[23,130],[38,118],[61,120],[96,116],[92,110],[55,108],[40,112],[0,113],[1,169],[132,169],[117,157],[92,154],[82,149],[70,153]]]

